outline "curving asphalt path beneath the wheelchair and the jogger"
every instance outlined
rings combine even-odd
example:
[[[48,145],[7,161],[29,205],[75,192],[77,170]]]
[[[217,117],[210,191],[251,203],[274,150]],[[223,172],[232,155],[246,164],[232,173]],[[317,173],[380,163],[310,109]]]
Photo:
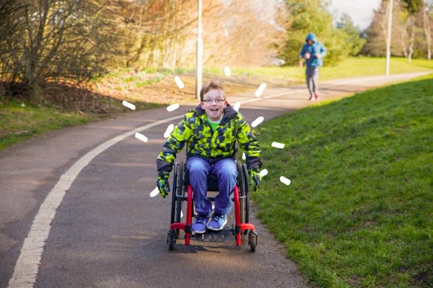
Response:
[[[319,101],[424,74],[322,82]],[[317,102],[306,99],[304,85],[269,88],[260,98],[253,91],[228,96],[232,105],[242,103],[249,123]],[[309,287],[254,208],[256,252],[228,234],[190,246],[177,241],[168,250],[171,198],[149,196],[155,159],[166,127],[194,106],[130,112],[1,151],[0,287]],[[233,223],[230,215],[227,227]]]

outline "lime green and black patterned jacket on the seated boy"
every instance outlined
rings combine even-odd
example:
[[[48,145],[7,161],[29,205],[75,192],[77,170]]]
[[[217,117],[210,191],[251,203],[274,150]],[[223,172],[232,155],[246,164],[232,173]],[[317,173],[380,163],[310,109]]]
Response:
[[[206,159],[236,157],[236,140],[247,157],[247,168],[260,168],[260,147],[242,114],[227,105],[224,116],[216,131],[208,124],[205,111],[198,105],[190,110],[173,129],[156,159],[158,171],[170,172],[176,154],[187,143],[186,157],[197,156]]]

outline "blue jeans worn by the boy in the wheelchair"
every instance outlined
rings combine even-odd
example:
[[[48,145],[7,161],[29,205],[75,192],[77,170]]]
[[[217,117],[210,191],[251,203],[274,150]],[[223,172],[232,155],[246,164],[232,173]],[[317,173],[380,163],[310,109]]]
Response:
[[[213,164],[213,165],[212,165]],[[228,214],[232,209],[234,185],[238,177],[236,162],[234,159],[225,158],[216,162],[200,157],[190,157],[186,161],[186,168],[189,172],[189,180],[193,187],[193,199],[195,211],[210,215],[212,202],[207,197],[208,174],[214,174],[218,179],[218,195],[215,197],[215,213]]]

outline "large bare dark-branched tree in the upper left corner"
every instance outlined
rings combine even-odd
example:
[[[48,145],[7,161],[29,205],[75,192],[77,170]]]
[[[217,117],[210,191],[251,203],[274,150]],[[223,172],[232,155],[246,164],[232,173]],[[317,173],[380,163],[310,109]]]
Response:
[[[104,1],[16,3],[10,17],[19,25],[10,33],[19,41],[2,54],[10,60],[6,77],[12,88],[32,90],[31,100],[40,103],[40,87],[47,81],[79,83],[105,71],[112,36],[101,17]]]

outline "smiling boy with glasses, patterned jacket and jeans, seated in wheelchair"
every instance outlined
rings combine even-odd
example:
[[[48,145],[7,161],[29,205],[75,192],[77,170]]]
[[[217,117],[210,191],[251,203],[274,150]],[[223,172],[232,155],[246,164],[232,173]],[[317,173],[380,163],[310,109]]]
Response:
[[[242,114],[227,103],[223,83],[210,81],[200,91],[200,104],[186,113],[184,119],[173,129],[156,160],[157,186],[163,198],[169,194],[169,174],[176,154],[186,148],[186,168],[189,172],[193,200],[197,212],[192,225],[193,233],[205,233],[206,228],[220,231],[227,223],[232,208],[230,195],[236,185],[236,140],[247,158],[247,168],[258,189],[262,176],[260,147]],[[207,197],[208,174],[218,179],[218,195],[212,203]]]

